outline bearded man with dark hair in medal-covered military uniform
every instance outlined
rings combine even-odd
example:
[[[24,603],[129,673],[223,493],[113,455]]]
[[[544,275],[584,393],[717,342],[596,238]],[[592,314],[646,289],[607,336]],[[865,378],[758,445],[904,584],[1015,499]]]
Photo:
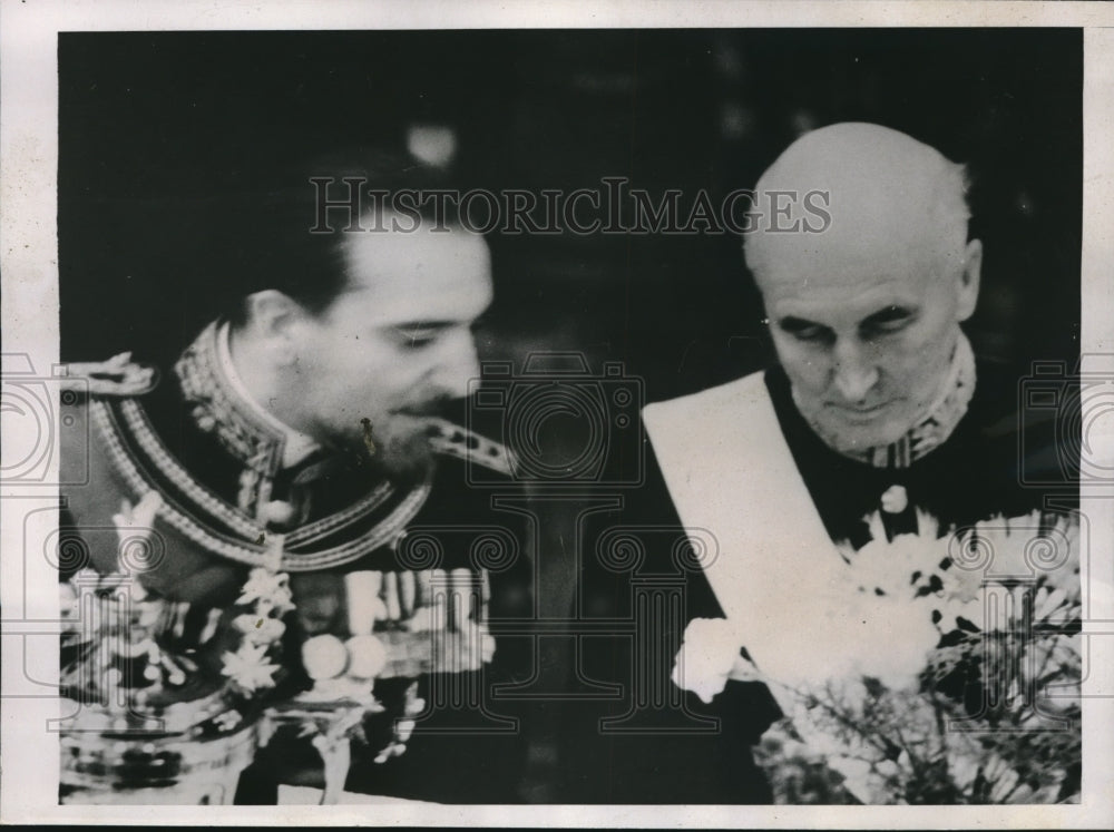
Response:
[[[358,175],[351,187],[389,195],[422,168],[378,155],[311,173],[341,189]],[[491,689],[522,673],[521,656],[488,624],[529,616],[527,546],[489,493],[466,484],[468,466],[509,474],[506,451],[442,418],[479,375],[472,327],[491,303],[488,246],[451,217],[414,228],[414,216],[400,224],[382,205],[326,215],[322,233],[328,205],[311,177],[276,193],[245,216],[253,232],[236,265],[255,266],[253,291],[162,378],[130,355],[71,365],[89,397],[70,415],[87,423],[75,434],[89,446],[63,449],[62,463],[88,458],[90,474],[66,490],[63,525],[126,525],[140,503],[153,515],[159,554],[137,577],[182,610],[175,634],[193,633],[195,657],[251,570],[287,575],[295,610],[280,687],[321,688],[328,702],[328,684],[362,663],[388,713],[407,717],[393,743],[353,743],[350,791],[517,800],[521,725]],[[258,244],[271,248],[251,251]],[[91,561],[120,568],[116,550]],[[283,781],[322,785],[321,760],[296,736],[304,727],[280,726],[241,801],[274,801]]]

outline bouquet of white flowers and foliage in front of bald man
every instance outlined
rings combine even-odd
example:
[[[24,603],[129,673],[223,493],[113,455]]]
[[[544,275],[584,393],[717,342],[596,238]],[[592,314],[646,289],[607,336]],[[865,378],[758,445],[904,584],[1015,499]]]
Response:
[[[1079,794],[1079,527],[995,518],[841,548],[815,655],[769,678],[725,619],[696,619],[674,682],[709,702],[761,678],[785,718],[755,757],[784,803],[1052,803]],[[743,623],[745,624],[745,623]],[[745,656],[745,654],[743,654]]]

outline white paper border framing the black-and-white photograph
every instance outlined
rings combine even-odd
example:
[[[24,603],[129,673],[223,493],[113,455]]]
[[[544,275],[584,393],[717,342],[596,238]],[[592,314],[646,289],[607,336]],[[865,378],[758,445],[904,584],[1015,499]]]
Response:
[[[1114,8],[1089,2],[702,2],[684,0],[268,2],[124,0],[0,7],[0,274],[3,352],[39,373],[58,362],[58,58],[62,31],[693,27],[1069,27],[1084,31],[1084,354],[1114,354]],[[57,425],[55,425],[57,430]],[[4,439],[9,439],[4,437]],[[1106,437],[1114,440],[1114,437]],[[1106,442],[1106,450],[1114,441]],[[3,702],[0,820],[180,825],[1085,828],[1114,820],[1114,500],[1083,493],[1093,531],[1092,620],[1084,633],[1083,802],[1071,806],[72,806],[58,805],[58,744],[43,731],[58,699],[29,679],[57,678],[57,575],[19,557],[27,523],[58,505],[51,487],[0,490]],[[1086,576],[1085,576],[1086,578]],[[33,647],[32,647],[33,645]],[[38,693],[37,693],[38,692]]]

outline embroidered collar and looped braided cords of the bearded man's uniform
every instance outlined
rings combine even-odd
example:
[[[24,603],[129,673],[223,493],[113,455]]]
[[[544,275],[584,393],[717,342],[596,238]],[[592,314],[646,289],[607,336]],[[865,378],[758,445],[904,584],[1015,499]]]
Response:
[[[262,419],[258,408],[250,407],[231,383],[218,354],[219,329],[209,324],[174,371],[197,428],[241,463],[235,500],[228,500],[223,488],[214,490],[214,483],[201,479],[167,449],[138,399],[91,397],[90,422],[116,474],[135,495],[152,490],[166,495],[159,516],[193,544],[252,567],[316,571],[393,545],[429,497],[432,466],[420,481],[404,487],[389,479],[341,483],[345,493],[352,491],[351,501],[333,500],[339,508],[326,507],[286,531],[270,528],[272,486],[281,470],[286,432]]]

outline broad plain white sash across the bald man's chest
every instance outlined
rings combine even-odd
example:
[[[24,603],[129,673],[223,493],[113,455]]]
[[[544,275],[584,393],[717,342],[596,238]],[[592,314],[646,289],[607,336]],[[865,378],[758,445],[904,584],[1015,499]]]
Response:
[[[797,469],[763,373],[651,404],[643,420],[682,523],[709,529],[719,542],[704,571],[733,636],[764,675],[800,676],[797,646],[808,640],[815,655],[824,637],[815,605],[844,564]]]

